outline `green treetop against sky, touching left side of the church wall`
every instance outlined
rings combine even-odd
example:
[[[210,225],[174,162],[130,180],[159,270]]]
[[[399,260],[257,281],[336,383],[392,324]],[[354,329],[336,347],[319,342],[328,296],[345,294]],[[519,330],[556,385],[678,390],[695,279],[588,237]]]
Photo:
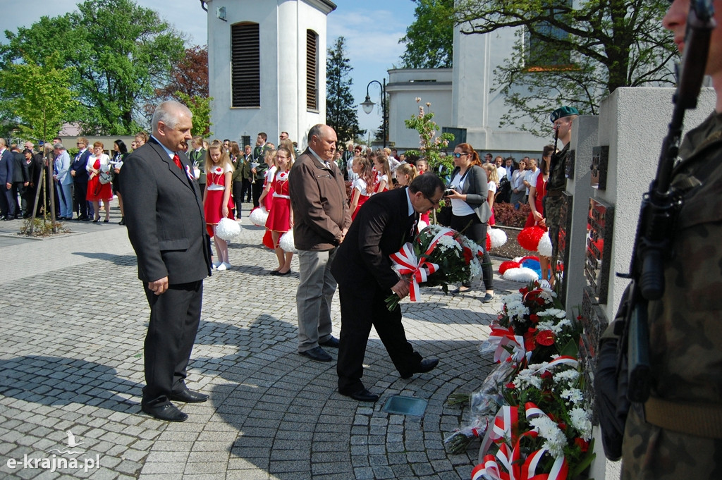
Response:
[[[416,19],[399,43],[406,44],[406,69],[443,69],[453,64],[453,0],[414,0]]]

